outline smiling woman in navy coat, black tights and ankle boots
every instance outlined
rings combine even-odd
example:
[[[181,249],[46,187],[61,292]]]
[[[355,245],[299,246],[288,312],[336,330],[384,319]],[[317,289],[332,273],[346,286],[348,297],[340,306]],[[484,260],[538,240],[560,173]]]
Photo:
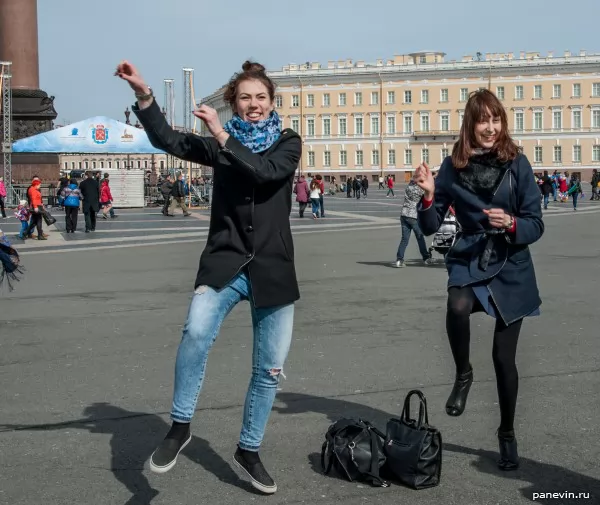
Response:
[[[470,315],[496,318],[492,357],[500,404],[498,439],[502,470],[519,466],[514,417],[517,340],[523,318],[539,314],[541,300],[529,245],[544,232],[540,193],[531,165],[508,133],[502,103],[488,90],[473,93],[459,141],[435,182],[426,164],[414,175],[425,195],[419,224],[431,235],[454,206],[461,232],[446,256],[446,329],[456,381],[446,412],[460,416],[473,382],[469,363]]]

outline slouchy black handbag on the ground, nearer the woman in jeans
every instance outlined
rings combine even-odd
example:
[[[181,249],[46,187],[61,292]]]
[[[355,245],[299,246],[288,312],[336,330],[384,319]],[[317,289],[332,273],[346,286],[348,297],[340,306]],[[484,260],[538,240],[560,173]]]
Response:
[[[379,469],[385,463],[383,438],[384,434],[368,421],[340,419],[325,435],[321,449],[323,472],[329,474],[335,467],[350,482],[365,481],[388,487],[389,483],[379,476]]]

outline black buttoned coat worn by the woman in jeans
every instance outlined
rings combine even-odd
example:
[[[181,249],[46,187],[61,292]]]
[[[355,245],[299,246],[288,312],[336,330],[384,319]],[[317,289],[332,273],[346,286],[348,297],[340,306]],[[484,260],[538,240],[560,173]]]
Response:
[[[212,137],[174,131],[156,101],[133,110],[154,147],[213,167],[210,227],[194,287],[221,289],[247,269],[256,307],[300,298],[289,220],[300,136],[283,130],[267,151],[255,154],[233,137],[221,148]]]

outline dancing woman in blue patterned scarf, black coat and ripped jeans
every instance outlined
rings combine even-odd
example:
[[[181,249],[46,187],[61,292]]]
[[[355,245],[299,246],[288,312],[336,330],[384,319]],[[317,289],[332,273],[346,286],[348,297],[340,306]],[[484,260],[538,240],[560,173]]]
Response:
[[[211,137],[174,131],[152,90],[133,65],[116,74],[136,93],[133,107],[152,144],[178,158],[213,167],[213,204],[206,247],[175,365],[173,425],[150,468],[164,473],[190,442],[190,421],[202,388],[208,352],[233,307],[250,301],[254,346],[252,378],[234,463],[263,493],[277,490],[258,456],[292,339],[299,298],[290,229],[292,182],[302,142],[281,130],[275,84],[265,68],[246,62],[225,91],[233,118],[221,125],[206,105],[194,111]]]

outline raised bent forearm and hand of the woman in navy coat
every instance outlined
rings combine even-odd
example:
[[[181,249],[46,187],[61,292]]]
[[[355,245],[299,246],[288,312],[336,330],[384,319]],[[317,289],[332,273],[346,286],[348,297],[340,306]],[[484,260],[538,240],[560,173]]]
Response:
[[[427,170],[429,171],[429,168],[427,168]],[[426,236],[433,235],[439,230],[440,226],[444,222],[446,214],[448,213],[450,205],[452,205],[453,199],[450,194],[450,188],[452,187],[450,176],[452,175],[452,170],[454,170],[454,168],[452,167],[450,158],[447,158],[442,163],[438,176],[435,178],[435,180],[433,180],[433,175],[426,175],[427,178],[431,177],[431,182],[421,184],[417,182],[417,184],[419,184],[419,186],[425,190],[425,195],[423,196],[417,211],[419,227]],[[415,178],[417,178],[419,175],[420,172],[417,170],[417,172],[415,172]],[[433,183],[434,187],[433,192],[431,192],[430,188],[428,187],[431,183]],[[426,187],[423,187],[424,185]]]

